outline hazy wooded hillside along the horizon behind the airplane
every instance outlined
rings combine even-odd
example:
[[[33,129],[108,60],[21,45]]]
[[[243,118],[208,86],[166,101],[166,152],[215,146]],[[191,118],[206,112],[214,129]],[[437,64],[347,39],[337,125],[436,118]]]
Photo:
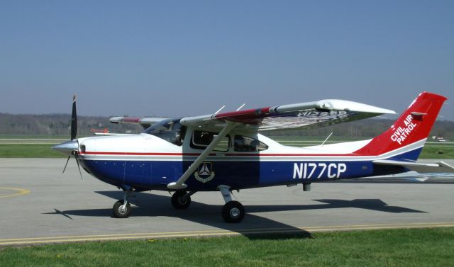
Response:
[[[69,114],[13,115],[0,113],[0,135],[70,135]],[[78,134],[91,135],[92,129],[110,132],[138,133],[143,129],[138,125],[116,125],[109,123],[110,117],[78,116]],[[278,136],[333,136],[372,137],[380,134],[394,123],[394,120],[367,119],[312,130],[272,131],[267,135]],[[454,140],[454,122],[436,122],[431,136],[442,136]]]

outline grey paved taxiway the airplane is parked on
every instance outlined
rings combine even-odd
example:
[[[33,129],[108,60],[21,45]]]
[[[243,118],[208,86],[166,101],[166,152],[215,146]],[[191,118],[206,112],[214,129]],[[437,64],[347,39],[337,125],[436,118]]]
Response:
[[[0,245],[257,232],[454,226],[454,177],[437,183],[313,183],[234,192],[247,215],[221,218],[221,193],[196,193],[175,210],[167,192],[137,193],[128,219],[111,217],[122,192],[83,173],[74,159],[0,159]],[[453,160],[446,161],[454,164]]]

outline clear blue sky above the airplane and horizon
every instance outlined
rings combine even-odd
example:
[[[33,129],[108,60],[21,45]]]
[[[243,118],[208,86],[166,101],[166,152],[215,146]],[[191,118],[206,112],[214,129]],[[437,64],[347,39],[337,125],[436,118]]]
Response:
[[[0,1],[0,35],[1,113],[454,99],[454,1]]]

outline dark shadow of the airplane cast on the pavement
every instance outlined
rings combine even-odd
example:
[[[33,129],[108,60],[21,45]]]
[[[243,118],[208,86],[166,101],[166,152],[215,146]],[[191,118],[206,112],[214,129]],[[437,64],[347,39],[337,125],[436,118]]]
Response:
[[[121,191],[101,191],[96,192],[115,200],[123,198]],[[379,199],[359,199],[359,200],[316,200],[323,204],[316,205],[246,205],[245,210],[248,213],[240,224],[228,224],[221,218],[221,205],[207,205],[192,201],[191,207],[187,210],[175,210],[170,204],[170,195],[153,195],[150,193],[135,193],[134,198],[130,198],[133,206],[131,217],[178,217],[183,220],[196,222],[202,225],[209,225],[218,229],[226,229],[232,232],[238,232],[250,239],[280,239],[289,237],[311,238],[309,232],[286,225],[282,222],[276,222],[264,217],[253,215],[253,212],[274,212],[288,210],[317,210],[331,208],[362,208],[367,210],[377,210],[380,212],[423,212],[397,206],[389,206]],[[92,209],[92,210],[65,210],[54,209],[55,212],[46,214],[60,214],[71,220],[71,216],[88,216],[88,217],[112,217],[111,208]],[[254,233],[255,232],[255,233]],[[265,233],[264,233],[265,232]]]

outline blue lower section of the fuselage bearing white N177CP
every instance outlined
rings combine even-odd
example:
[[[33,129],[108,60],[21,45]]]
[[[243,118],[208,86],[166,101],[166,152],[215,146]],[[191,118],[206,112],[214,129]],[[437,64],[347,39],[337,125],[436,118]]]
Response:
[[[417,151],[416,151],[417,150]],[[421,149],[394,159],[412,158]],[[84,169],[114,186],[133,186],[136,190],[166,190],[177,181],[192,161],[81,159]],[[204,164],[206,166],[204,166]],[[216,191],[219,185],[232,189],[312,183],[337,178],[358,178],[397,174],[406,169],[382,168],[372,160],[348,161],[301,159],[289,161],[207,161],[187,181],[188,191]],[[203,168],[202,168],[203,167]]]

